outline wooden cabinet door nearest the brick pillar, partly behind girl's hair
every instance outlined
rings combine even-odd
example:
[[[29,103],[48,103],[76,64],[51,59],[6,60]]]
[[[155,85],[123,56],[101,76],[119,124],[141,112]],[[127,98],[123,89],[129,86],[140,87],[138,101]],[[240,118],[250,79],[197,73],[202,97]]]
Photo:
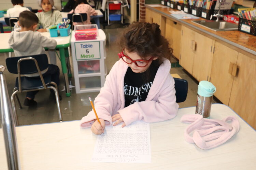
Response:
[[[145,21],[149,23],[157,23],[160,26],[161,35],[165,36],[166,17],[146,8]]]

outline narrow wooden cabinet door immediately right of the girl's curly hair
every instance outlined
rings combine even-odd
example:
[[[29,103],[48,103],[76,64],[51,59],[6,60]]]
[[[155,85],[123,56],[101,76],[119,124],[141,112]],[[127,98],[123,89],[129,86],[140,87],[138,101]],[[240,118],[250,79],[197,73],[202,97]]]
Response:
[[[173,55],[180,60],[181,55],[181,24],[166,19],[165,37],[173,49]]]

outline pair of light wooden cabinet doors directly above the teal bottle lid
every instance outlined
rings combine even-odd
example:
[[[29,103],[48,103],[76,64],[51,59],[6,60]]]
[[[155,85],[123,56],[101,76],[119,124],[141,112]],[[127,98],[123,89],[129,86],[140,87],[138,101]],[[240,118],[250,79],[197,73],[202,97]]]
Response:
[[[180,65],[198,81],[211,74],[214,40],[182,26]]]

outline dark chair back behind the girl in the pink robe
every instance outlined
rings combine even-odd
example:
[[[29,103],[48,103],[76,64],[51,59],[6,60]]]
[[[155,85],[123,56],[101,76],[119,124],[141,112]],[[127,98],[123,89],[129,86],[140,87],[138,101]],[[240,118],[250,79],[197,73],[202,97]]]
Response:
[[[176,90],[176,102],[184,102],[187,98],[187,90],[188,90],[188,83],[184,79],[173,78],[174,79],[174,88]]]

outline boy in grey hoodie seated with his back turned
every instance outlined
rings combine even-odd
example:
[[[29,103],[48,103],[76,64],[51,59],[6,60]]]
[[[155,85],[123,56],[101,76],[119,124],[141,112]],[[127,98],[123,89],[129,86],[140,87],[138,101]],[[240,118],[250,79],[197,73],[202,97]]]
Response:
[[[35,32],[38,24],[38,17],[30,12],[23,11],[19,14],[18,25],[20,31],[12,31],[9,39],[9,45],[13,48],[15,56],[27,56],[45,54],[44,47],[55,49],[57,42],[54,39],[49,39],[42,36],[40,32]],[[43,76],[51,75],[52,81],[59,85],[59,68],[56,65],[49,64],[48,69],[41,71]],[[39,73],[25,75],[27,77],[39,76]],[[38,91],[27,92],[24,101],[25,106],[36,105],[34,101],[35,94]],[[51,91],[50,97],[55,99],[55,94]],[[61,97],[60,97],[61,98]]]

